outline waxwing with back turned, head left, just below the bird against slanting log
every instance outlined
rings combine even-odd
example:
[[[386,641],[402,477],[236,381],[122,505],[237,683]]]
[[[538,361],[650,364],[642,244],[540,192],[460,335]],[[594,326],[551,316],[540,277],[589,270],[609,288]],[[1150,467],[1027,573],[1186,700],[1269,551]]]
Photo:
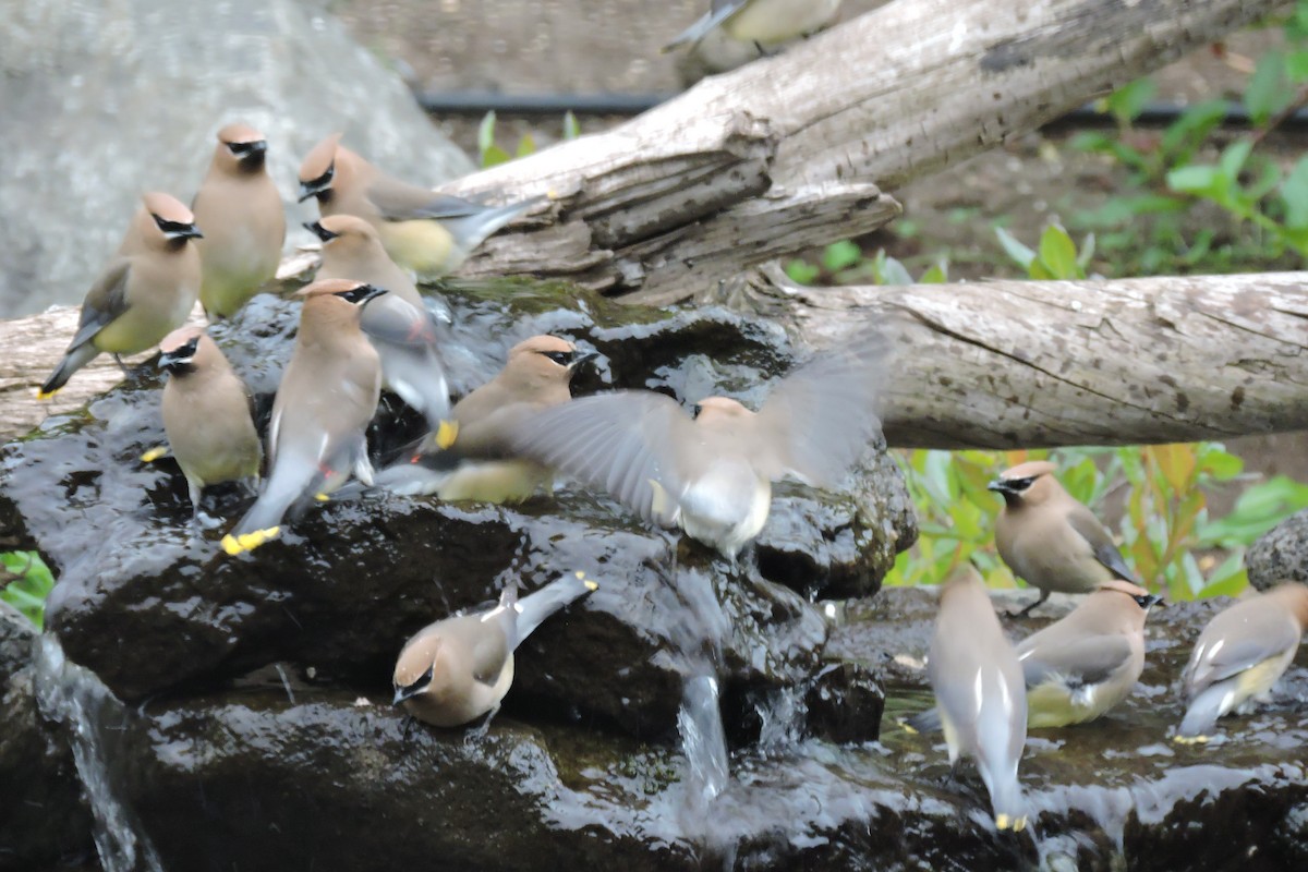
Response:
[[[364,333],[381,357],[382,386],[438,430],[450,417],[450,387],[437,352],[436,318],[413,281],[386,255],[373,225],[362,218],[334,214],[305,226],[323,243],[317,278],[349,278],[390,292],[364,309]]]

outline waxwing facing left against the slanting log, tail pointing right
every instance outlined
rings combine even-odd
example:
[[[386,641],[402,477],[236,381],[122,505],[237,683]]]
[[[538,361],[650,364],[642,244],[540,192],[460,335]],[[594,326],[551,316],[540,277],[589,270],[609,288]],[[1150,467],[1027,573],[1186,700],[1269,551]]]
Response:
[[[324,139],[300,165],[300,200],[317,197],[323,217],[368,221],[391,260],[420,276],[454,272],[487,237],[545,200],[488,207],[405,184],[340,145],[340,137]]]

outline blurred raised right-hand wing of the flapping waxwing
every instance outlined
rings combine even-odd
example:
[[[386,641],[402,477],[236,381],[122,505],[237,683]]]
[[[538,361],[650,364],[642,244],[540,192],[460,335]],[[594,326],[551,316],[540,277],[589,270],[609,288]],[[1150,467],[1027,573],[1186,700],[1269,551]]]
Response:
[[[760,460],[773,478],[791,473],[833,485],[880,435],[878,400],[888,344],[874,331],[823,352],[787,375],[759,409]]]

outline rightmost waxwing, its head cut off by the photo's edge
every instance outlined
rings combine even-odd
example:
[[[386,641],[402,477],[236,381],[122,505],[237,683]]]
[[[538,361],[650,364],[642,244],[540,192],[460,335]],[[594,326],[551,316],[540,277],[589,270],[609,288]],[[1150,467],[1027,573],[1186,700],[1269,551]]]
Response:
[[[1176,741],[1207,741],[1222,715],[1265,699],[1308,628],[1308,586],[1286,582],[1209,621],[1185,667],[1185,718]]]

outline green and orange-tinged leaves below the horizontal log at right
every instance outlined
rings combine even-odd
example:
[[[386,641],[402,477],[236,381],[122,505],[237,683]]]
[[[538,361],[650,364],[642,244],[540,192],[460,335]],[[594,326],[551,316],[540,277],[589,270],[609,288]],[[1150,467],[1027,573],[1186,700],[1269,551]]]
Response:
[[[1071,495],[1101,519],[1118,516],[1126,562],[1151,590],[1173,600],[1245,587],[1244,549],[1294,511],[1308,486],[1284,477],[1244,492],[1210,520],[1207,493],[1241,475],[1243,461],[1215,442],[1054,451],[905,451],[897,458],[918,511],[921,539],[899,556],[888,584],[939,584],[971,562],[993,587],[1016,579],[994,548],[1002,499],[986,485],[1003,469],[1048,458]]]

